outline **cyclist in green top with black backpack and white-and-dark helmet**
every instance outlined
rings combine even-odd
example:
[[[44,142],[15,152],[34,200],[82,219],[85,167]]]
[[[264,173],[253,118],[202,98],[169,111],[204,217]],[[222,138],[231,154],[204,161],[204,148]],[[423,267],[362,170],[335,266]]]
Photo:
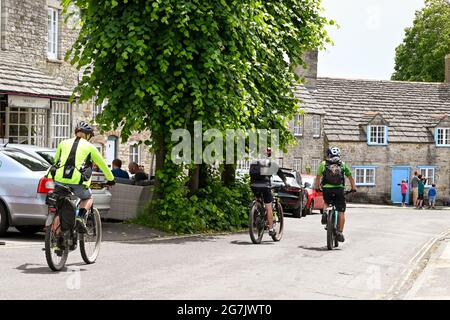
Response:
[[[322,161],[317,169],[317,177],[314,188],[319,190],[319,184],[323,189],[324,207],[322,214],[322,224],[327,224],[328,204],[334,204],[339,211],[339,228],[336,239],[339,242],[344,242],[344,224],[345,224],[345,177],[347,177],[351,184],[352,192],[356,192],[355,180],[352,177],[352,172],[347,164],[341,161],[341,151],[338,147],[331,147],[327,150],[327,160]]]

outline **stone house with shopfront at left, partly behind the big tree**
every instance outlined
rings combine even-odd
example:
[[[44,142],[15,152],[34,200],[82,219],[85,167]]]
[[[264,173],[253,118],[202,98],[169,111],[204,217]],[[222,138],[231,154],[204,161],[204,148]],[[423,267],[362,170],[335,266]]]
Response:
[[[70,103],[79,72],[64,61],[77,37],[57,0],[0,0],[0,142],[56,147],[72,137],[76,123],[95,123],[102,106],[94,101]],[[143,145],[148,134],[125,142],[120,132],[97,135],[93,143],[108,164],[114,158],[144,165],[152,157]]]

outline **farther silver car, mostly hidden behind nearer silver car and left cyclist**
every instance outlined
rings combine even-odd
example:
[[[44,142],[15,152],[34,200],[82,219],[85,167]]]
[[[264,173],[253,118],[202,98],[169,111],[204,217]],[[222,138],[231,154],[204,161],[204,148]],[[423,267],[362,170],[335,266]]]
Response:
[[[36,157],[39,157],[45,160],[49,166],[53,164],[55,159],[56,149],[27,144],[7,144],[7,146],[23,150]],[[94,206],[98,209],[100,215],[107,214],[111,204],[111,192],[109,192],[107,188],[102,187],[102,184],[105,182],[106,178],[102,172],[92,173],[92,198],[94,199]]]

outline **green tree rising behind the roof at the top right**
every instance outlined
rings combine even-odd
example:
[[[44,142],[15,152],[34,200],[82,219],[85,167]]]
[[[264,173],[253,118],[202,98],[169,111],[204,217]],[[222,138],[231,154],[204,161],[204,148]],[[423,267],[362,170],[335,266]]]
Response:
[[[426,0],[396,49],[392,80],[443,82],[450,53],[450,2]]]

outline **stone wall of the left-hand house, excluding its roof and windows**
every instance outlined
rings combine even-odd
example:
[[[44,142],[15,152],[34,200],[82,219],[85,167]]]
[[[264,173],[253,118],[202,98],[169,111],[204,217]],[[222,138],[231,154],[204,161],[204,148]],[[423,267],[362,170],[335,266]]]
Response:
[[[78,29],[74,20],[70,21],[70,25],[65,24],[60,2],[57,0],[2,0],[2,6],[1,48],[19,54],[35,67],[59,79],[64,86],[74,88],[78,83],[79,72],[65,62],[64,57],[75,42]],[[47,57],[47,8],[49,6],[60,9],[59,47],[56,60]],[[92,101],[72,105],[73,127],[81,120],[93,122],[92,105]],[[148,133],[134,134],[128,142],[123,142],[119,131],[108,132],[104,135],[98,135],[97,132],[93,142],[103,145],[103,156],[106,155],[105,146],[107,137],[110,135],[119,138],[118,157],[123,161],[124,169],[128,168],[130,144],[145,140],[149,136]],[[140,153],[140,164],[144,165],[147,173],[151,172],[151,153],[145,145],[141,145]]]

